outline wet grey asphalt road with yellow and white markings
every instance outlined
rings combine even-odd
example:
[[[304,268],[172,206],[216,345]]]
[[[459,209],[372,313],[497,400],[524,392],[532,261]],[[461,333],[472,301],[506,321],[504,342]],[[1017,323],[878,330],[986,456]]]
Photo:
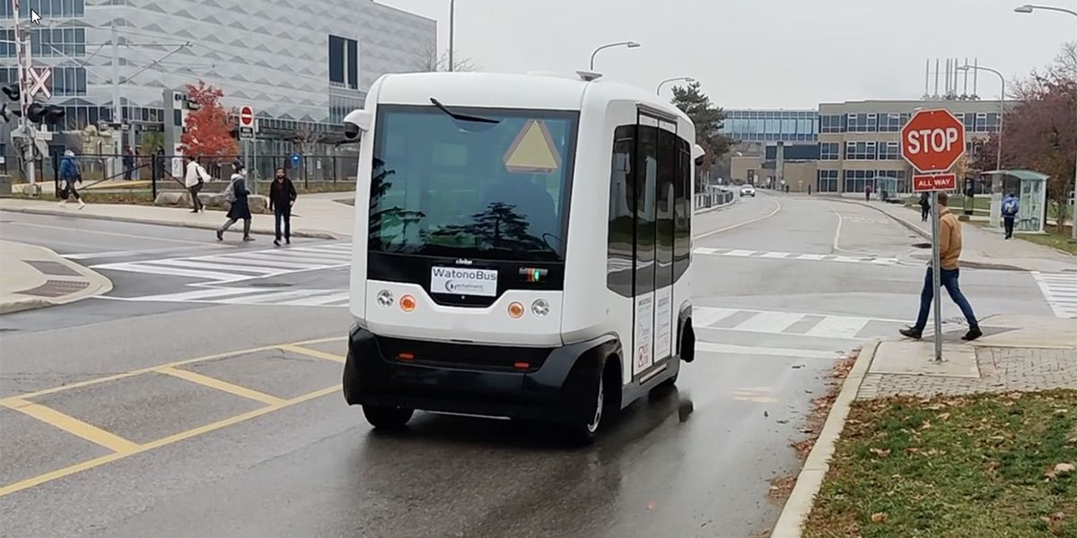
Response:
[[[112,253],[87,265],[250,249],[202,245],[197,230],[76,221],[80,231],[64,232],[56,228],[70,222],[34,218],[2,223],[0,233],[64,254]],[[769,481],[798,471],[788,444],[803,437],[802,417],[839,353],[892,338],[915,313],[923,266],[907,255],[917,239],[867,208],[767,194],[695,226],[707,251],[695,254],[694,302],[697,320],[712,322],[697,323],[699,356],[676,390],[637,402],[586,449],[534,425],[433,414],[404,434],[372,431],[338,390],[344,308],[92,299],[3,316],[0,534],[739,538],[769,529],[780,511]],[[157,235],[171,241],[142,239]],[[144,252],[167,246],[184,250]],[[816,259],[835,255],[844,260]],[[101,272],[114,295],[135,299],[201,282]],[[347,284],[338,269],[272,279],[293,289]],[[962,284],[981,316],[1050,312],[1025,273],[967,271]]]

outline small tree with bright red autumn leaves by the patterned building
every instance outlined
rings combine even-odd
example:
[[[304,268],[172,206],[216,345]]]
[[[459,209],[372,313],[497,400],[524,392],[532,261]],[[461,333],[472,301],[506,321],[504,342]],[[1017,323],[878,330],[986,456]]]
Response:
[[[230,116],[221,103],[221,88],[198,81],[197,85],[187,84],[187,97],[199,108],[187,115],[187,129],[180,138],[183,154],[212,161],[238,154]]]

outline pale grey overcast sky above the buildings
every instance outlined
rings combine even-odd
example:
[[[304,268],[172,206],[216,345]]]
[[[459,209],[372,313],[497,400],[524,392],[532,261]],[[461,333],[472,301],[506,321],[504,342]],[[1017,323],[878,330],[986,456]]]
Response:
[[[449,0],[377,1],[437,19],[447,48]],[[1077,17],[1013,13],[1024,2],[457,0],[457,52],[484,71],[572,72],[596,46],[635,40],[643,46],[599,53],[596,70],[648,89],[691,75],[726,108],[813,109],[919,98],[928,57],[979,57],[1008,79],[1049,63],[1077,39]],[[1077,10],[1077,0],[1037,3]],[[981,97],[998,96],[996,75],[979,82]]]

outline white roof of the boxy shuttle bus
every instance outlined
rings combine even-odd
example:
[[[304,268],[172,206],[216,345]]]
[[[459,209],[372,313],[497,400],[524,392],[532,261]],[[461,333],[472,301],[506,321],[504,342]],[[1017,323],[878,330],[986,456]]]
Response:
[[[384,104],[431,104],[433,97],[446,107],[581,110],[584,94],[589,100],[635,101],[690,119],[658,96],[616,82],[587,82],[579,77],[508,73],[404,73],[386,74],[370,88],[370,96]],[[592,101],[593,102],[593,101]],[[369,107],[367,107],[369,109]]]

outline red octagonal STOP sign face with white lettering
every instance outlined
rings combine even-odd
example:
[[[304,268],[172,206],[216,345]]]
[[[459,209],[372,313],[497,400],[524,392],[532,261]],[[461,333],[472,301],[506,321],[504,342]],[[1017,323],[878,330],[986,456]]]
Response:
[[[921,172],[945,172],[964,153],[965,124],[948,110],[922,110],[901,128],[901,157]]]

